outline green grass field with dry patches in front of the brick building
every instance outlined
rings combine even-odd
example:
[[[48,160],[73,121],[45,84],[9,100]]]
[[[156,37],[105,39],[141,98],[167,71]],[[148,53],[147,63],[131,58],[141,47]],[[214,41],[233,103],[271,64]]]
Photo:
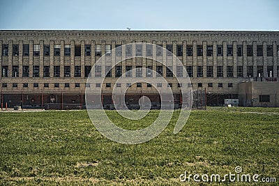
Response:
[[[107,115],[121,127],[140,128],[158,111],[137,122],[116,111]],[[0,112],[0,185],[209,185],[193,178],[181,183],[179,176],[223,176],[236,166],[276,183],[232,185],[278,185],[278,108],[195,110],[183,130],[172,134],[177,116],[179,110],[155,139],[125,145],[103,137],[86,111]]]

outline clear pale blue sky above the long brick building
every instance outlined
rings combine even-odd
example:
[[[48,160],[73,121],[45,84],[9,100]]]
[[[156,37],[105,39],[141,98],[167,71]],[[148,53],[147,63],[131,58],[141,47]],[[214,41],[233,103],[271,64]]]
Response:
[[[0,0],[0,29],[279,31],[277,0]]]

